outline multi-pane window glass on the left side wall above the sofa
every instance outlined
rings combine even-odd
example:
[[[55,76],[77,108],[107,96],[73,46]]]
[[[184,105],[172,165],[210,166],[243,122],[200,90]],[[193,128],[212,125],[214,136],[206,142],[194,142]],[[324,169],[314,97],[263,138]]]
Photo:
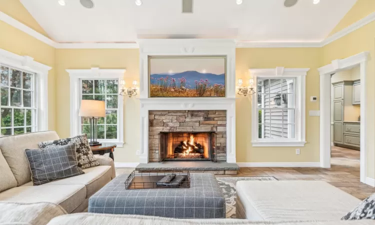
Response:
[[[0,136],[37,130],[35,73],[0,66]]]

